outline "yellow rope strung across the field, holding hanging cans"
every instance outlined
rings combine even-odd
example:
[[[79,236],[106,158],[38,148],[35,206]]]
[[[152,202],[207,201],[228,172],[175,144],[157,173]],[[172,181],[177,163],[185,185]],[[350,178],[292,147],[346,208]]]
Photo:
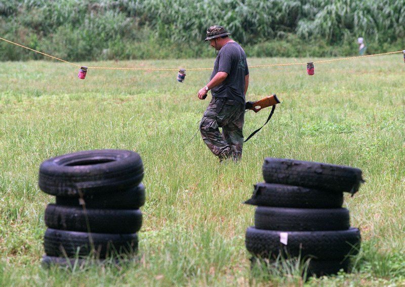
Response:
[[[53,57],[51,55],[36,51],[34,49],[31,49],[29,47],[17,44],[15,42],[6,40],[2,37],[0,37],[0,39],[15,44],[17,46],[23,47],[25,49],[34,51],[36,53],[48,56],[50,58],[68,63],[70,65],[76,66],[76,67],[81,67],[79,65],[70,63],[68,61]],[[395,54],[395,53],[402,53],[402,51],[396,51],[396,52],[388,52],[388,53],[381,53],[381,54],[374,54],[374,55],[366,55],[366,56],[356,56],[356,57],[348,57],[348,58],[340,58],[340,59],[333,59],[333,60],[323,60],[323,61],[315,61],[313,62],[314,64],[318,64],[318,63],[326,63],[326,62],[333,62],[333,61],[342,61],[342,60],[349,60],[349,59],[357,59],[357,58],[365,58],[365,57],[374,57],[374,56],[382,56],[382,55],[388,55],[388,54]],[[259,68],[259,67],[276,67],[276,66],[292,66],[292,65],[306,65],[307,63],[290,63],[290,64],[270,64],[270,65],[256,65],[256,66],[249,66],[249,68]],[[113,67],[88,67],[89,69],[110,69],[110,70],[141,70],[141,71],[177,71],[178,69],[160,69],[160,68],[113,68]],[[187,71],[197,71],[197,70],[212,70],[212,68],[193,68],[193,69],[186,69]]]

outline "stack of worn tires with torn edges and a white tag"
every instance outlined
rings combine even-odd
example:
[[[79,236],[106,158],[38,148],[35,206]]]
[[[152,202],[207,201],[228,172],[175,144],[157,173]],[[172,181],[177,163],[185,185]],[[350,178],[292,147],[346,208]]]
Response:
[[[255,226],[246,231],[254,261],[308,260],[308,274],[348,272],[358,253],[360,232],[350,227],[343,192],[352,195],[363,181],[361,170],[318,162],[266,158],[265,182],[255,185],[245,203],[255,205]],[[265,259],[265,260],[262,260]]]

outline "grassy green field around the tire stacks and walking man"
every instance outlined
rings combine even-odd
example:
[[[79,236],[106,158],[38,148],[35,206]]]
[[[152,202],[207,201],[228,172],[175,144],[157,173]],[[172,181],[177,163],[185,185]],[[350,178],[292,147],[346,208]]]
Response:
[[[316,59],[248,59],[250,65]],[[210,68],[206,60],[79,63],[89,66]],[[362,169],[366,183],[345,195],[362,236],[351,274],[308,285],[405,285],[405,66],[402,56],[315,65],[251,68],[247,100],[276,93],[267,126],[244,146],[242,161],[219,164],[197,122],[208,101],[196,94],[211,70],[90,69],[61,62],[4,62],[0,69],[0,285],[300,285],[289,265],[252,276],[245,231],[254,207],[242,204],[263,181],[265,157]],[[269,109],[248,112],[245,136]],[[37,186],[39,165],[92,149],[138,152],[146,204],[140,262],[129,266],[43,269],[44,211],[55,199]]]

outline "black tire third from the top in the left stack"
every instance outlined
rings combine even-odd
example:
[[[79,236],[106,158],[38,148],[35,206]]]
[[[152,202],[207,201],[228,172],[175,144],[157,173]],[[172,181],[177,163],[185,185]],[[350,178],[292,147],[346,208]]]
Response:
[[[90,209],[49,204],[45,224],[54,229],[96,232],[135,233],[142,226],[139,209]]]

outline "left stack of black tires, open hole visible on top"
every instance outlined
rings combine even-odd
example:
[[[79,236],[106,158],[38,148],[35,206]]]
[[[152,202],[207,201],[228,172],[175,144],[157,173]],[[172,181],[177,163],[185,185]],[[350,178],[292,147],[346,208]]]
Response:
[[[48,159],[39,188],[48,204],[42,263],[69,265],[89,258],[134,258],[145,203],[140,156],[126,150],[92,150]]]

